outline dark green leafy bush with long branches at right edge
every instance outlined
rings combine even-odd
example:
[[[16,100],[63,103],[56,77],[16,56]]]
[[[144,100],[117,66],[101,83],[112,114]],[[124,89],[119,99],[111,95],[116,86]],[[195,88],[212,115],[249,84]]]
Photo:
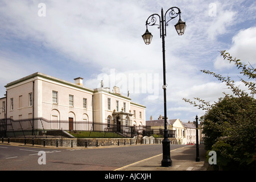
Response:
[[[200,98],[185,102],[205,110],[201,119],[205,148],[217,153],[217,166],[221,169],[256,169],[256,69],[251,64],[242,64],[229,53],[221,51],[224,60],[237,65],[241,70],[240,81],[248,87],[249,93],[235,85],[231,77],[223,77],[214,72],[201,71],[225,82],[233,95],[224,93],[214,104]],[[199,102],[199,103],[198,103]]]

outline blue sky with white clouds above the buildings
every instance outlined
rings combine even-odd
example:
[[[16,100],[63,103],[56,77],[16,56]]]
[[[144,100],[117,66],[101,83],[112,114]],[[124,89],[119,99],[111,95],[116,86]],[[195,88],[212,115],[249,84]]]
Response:
[[[66,81],[84,78],[84,86],[112,90],[146,106],[146,120],[164,115],[162,39],[148,26],[150,45],[143,42],[152,14],[179,7],[184,35],[166,27],[167,117],[195,121],[205,111],[183,98],[218,101],[226,85],[200,70],[230,76],[245,88],[236,66],[224,61],[227,50],[243,63],[256,64],[256,2],[253,0],[86,0],[0,1],[0,98],[5,85],[35,72]]]

